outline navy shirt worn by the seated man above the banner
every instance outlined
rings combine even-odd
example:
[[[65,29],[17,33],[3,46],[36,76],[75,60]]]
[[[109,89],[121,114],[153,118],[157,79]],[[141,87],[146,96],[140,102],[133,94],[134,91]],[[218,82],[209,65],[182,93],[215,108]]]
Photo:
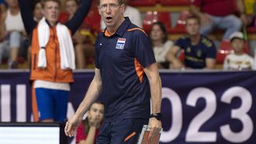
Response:
[[[206,36],[201,36],[197,45],[192,45],[189,36],[182,36],[175,43],[185,52],[185,66],[195,69],[206,67],[206,58],[216,58],[216,46]]]

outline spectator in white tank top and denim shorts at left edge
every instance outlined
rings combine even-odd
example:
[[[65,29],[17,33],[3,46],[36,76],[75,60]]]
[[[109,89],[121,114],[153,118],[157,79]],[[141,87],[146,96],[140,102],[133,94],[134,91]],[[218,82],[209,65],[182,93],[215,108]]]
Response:
[[[6,0],[8,9],[2,13],[0,60],[9,57],[9,68],[18,68],[16,59],[26,36],[17,0]],[[1,61],[0,61],[1,62]]]

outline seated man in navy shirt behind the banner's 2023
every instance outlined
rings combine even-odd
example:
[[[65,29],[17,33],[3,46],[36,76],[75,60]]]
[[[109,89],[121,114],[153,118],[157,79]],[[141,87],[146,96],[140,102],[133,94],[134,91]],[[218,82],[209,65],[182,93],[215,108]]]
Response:
[[[179,38],[168,52],[171,68],[213,69],[215,67],[216,47],[212,40],[199,34],[199,28],[199,17],[192,15],[186,19],[187,35]],[[185,54],[184,63],[176,57],[181,50],[184,50]]]

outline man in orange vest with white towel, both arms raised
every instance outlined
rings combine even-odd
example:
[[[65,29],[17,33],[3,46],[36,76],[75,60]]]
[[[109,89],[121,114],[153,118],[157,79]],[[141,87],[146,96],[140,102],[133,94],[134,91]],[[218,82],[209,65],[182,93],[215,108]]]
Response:
[[[41,122],[63,122],[67,114],[67,100],[70,83],[73,80],[74,47],[71,34],[74,34],[85,19],[92,0],[81,0],[73,19],[64,23],[57,22],[60,2],[44,0],[43,19],[33,20],[29,1],[19,0],[22,19],[26,32],[31,35],[31,75],[36,98],[33,95],[34,120],[38,115]],[[35,101],[36,100],[36,101]],[[34,106],[34,105],[33,105]],[[39,114],[36,110],[39,110]]]

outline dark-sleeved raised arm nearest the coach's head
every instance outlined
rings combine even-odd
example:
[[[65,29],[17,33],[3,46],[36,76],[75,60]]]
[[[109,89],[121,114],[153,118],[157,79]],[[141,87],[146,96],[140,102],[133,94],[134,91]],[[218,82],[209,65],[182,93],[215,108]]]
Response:
[[[74,13],[73,18],[70,21],[67,21],[65,25],[68,29],[71,29],[72,35],[75,31],[81,26],[81,23],[84,21],[85,16],[88,14],[92,5],[92,0],[81,0],[77,12]]]

